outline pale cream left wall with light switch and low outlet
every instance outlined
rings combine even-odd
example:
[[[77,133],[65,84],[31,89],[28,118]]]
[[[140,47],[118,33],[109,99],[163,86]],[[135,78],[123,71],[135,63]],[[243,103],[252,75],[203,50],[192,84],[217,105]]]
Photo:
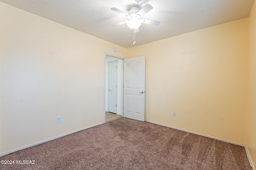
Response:
[[[104,52],[127,49],[2,2],[0,25],[0,154],[103,123]]]

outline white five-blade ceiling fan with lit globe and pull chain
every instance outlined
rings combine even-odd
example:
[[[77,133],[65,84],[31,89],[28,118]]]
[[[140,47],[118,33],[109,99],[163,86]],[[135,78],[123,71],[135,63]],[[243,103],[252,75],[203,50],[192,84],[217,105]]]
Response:
[[[139,10],[138,6],[132,6],[127,14],[121,10],[118,10],[117,8],[111,8],[112,11],[117,12],[118,14],[122,14],[123,16],[126,16],[128,18],[128,20],[112,24],[112,26],[118,26],[118,25],[122,25],[122,24],[126,23],[127,26],[133,30],[133,33],[134,33],[133,44],[135,44],[136,43],[135,33],[139,32],[139,27],[142,23],[156,25],[156,26],[160,24],[160,21],[147,20],[147,19],[141,18],[142,16],[144,16],[146,13],[148,13],[152,9],[153,9],[153,7],[150,4],[146,4],[140,10]]]

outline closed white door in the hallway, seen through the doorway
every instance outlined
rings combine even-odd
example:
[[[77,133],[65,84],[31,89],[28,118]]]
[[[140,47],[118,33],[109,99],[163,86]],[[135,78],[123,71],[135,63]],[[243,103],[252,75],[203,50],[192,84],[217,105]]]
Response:
[[[117,61],[108,62],[108,111],[117,113]]]

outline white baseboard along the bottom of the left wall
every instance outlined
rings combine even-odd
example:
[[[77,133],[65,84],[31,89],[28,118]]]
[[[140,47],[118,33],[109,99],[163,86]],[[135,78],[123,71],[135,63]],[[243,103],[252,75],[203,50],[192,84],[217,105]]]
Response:
[[[28,147],[32,147],[32,146],[34,146],[34,145],[38,145],[38,144],[41,144],[41,143],[44,143],[44,142],[47,142],[47,141],[51,141],[51,140],[53,140],[53,139],[57,139],[57,138],[59,138],[59,137],[63,137],[63,136],[69,135],[69,134],[71,134],[71,133],[75,133],[75,132],[78,132],[78,131],[82,131],[82,130],[84,130],[84,129],[88,129],[88,128],[90,128],[90,127],[98,126],[98,125],[101,125],[101,124],[103,124],[103,123],[99,123],[99,124],[96,124],[96,125],[92,125],[92,126],[89,126],[89,127],[83,128],[83,129],[78,129],[78,130],[76,130],[76,131],[72,131],[72,132],[65,133],[65,134],[60,135],[60,136],[52,137],[52,138],[50,138],[50,139],[46,139],[46,140],[44,140],[44,141],[40,141],[40,142],[37,142],[37,143],[32,143],[32,144],[30,144],[30,145],[26,145],[26,146],[24,146],[24,147],[20,147],[20,148],[17,148],[17,149],[13,149],[13,150],[10,150],[10,151],[8,151],[8,152],[3,152],[3,153],[0,154],[0,156],[4,156],[4,155],[6,155],[6,154],[9,154],[9,153],[12,153],[12,152],[16,152],[16,151],[18,151],[18,150],[22,150],[22,149],[25,149],[25,148],[28,148]]]

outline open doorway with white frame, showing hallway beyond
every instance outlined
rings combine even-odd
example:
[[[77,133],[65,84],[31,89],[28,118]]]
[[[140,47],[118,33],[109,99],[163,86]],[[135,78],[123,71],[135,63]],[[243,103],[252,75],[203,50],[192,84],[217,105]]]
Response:
[[[104,123],[106,112],[123,116],[124,57],[105,53],[104,75]],[[109,115],[109,113],[107,113]],[[116,118],[114,116],[113,118]]]

